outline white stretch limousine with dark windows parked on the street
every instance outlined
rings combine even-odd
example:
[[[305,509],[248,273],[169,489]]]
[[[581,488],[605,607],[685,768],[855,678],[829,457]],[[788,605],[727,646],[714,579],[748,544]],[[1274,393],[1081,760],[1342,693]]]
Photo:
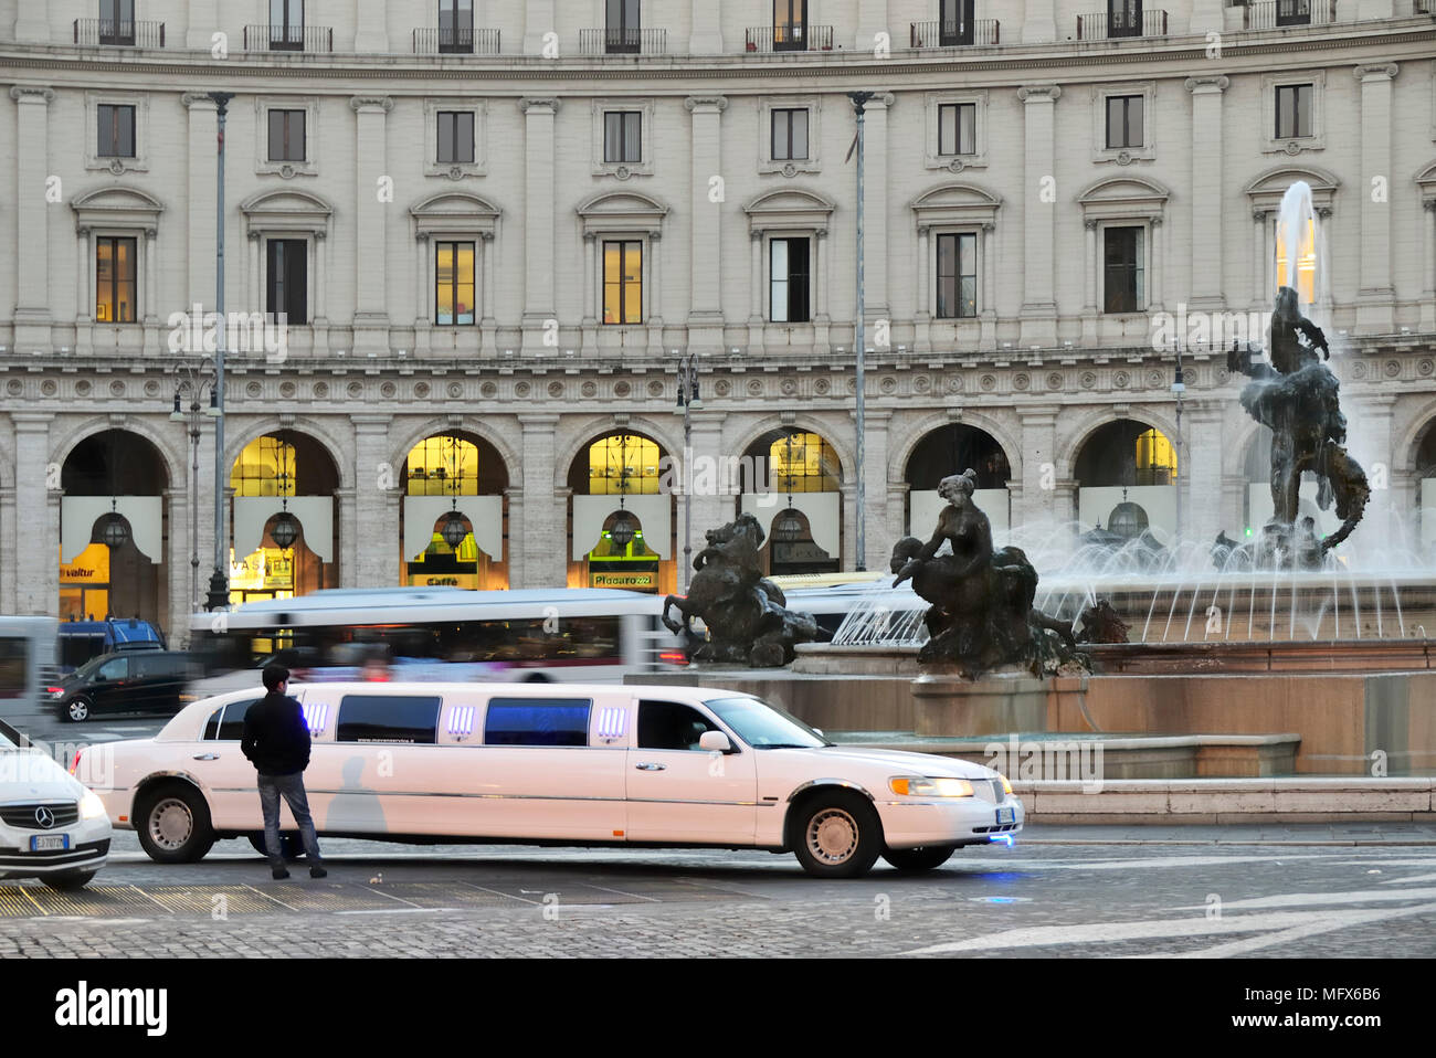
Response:
[[[964,761],[841,748],[728,690],[534,683],[309,683],[304,772],[320,835],[405,843],[708,846],[793,851],[826,877],[938,867],[1011,843],[1022,804]],[[240,752],[258,692],[185,706],[152,739],[106,744],[115,825],[151,858],[258,840]],[[78,761],[79,764],[79,761]],[[286,828],[293,821],[284,810]]]

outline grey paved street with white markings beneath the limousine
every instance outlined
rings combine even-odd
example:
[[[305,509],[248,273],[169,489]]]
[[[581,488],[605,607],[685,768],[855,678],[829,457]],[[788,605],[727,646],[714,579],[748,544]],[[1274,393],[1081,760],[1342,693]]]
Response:
[[[1157,834],[1157,831],[1153,831]],[[247,843],[159,866],[132,834],[80,894],[0,883],[0,958],[1436,955],[1436,847],[1070,844],[1030,830],[925,876],[807,877],[791,856],[325,843],[273,881]],[[1427,835],[1429,837],[1429,835]],[[1100,838],[1104,841],[1104,838]]]

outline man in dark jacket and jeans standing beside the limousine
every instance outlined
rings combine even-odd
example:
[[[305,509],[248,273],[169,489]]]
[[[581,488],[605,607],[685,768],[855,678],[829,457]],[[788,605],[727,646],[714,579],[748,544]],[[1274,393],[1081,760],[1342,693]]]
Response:
[[[240,742],[240,749],[258,772],[264,851],[274,877],[287,879],[279,841],[279,798],[283,797],[304,840],[309,877],[322,879],[329,871],[319,856],[314,820],[304,795],[304,768],[309,767],[309,725],[304,724],[304,711],[284,693],[289,689],[289,669],[283,665],[264,666],[264,689],[269,693],[244,715],[244,739]]]

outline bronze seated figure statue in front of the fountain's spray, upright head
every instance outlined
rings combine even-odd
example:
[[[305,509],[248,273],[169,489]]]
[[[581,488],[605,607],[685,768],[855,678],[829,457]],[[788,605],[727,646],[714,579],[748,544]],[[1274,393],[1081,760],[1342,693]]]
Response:
[[[915,537],[893,548],[898,579],[932,606],[925,623],[928,642],[919,662],[951,662],[976,679],[1001,665],[1025,663],[1034,675],[1074,662],[1071,627],[1034,609],[1037,570],[1021,548],[992,548],[992,524],[972,502],[976,471],[943,478],[938,494],[948,501],[932,540],[916,550]],[[952,554],[939,556],[943,543]]]

